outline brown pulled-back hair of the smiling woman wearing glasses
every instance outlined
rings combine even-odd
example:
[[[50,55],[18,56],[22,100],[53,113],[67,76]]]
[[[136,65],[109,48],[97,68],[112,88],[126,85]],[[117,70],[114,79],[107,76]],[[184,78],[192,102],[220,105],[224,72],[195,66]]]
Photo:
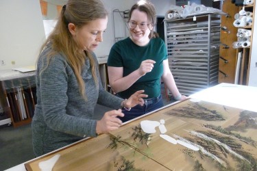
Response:
[[[147,14],[147,22],[148,24],[152,24],[153,27],[156,25],[156,9],[154,8],[154,4],[147,0],[140,0],[135,3],[132,8],[130,9],[129,14],[129,20],[132,16],[132,12],[134,10],[139,10],[140,12],[145,12]],[[149,34],[149,38],[157,38],[158,34],[154,31],[154,29],[151,30]]]

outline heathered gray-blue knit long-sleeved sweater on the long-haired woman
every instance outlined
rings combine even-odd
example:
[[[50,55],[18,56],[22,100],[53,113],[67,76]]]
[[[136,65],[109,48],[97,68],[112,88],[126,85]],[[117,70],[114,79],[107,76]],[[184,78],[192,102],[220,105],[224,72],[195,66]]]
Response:
[[[99,85],[95,86],[89,60],[86,60],[82,70],[88,98],[88,101],[85,101],[79,94],[73,69],[60,53],[52,57],[49,66],[42,70],[47,64],[47,51],[49,48],[40,55],[36,70],[37,105],[32,120],[32,141],[36,156],[49,153],[83,137],[96,136],[97,120],[92,119],[95,105],[98,103],[119,109],[123,101],[103,89],[98,70]],[[95,61],[97,62],[96,57]]]

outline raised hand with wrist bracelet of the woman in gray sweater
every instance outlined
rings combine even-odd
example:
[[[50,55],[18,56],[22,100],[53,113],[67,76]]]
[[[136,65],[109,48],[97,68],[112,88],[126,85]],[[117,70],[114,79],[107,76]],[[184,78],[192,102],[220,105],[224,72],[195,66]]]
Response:
[[[145,101],[143,98],[147,97],[147,94],[143,94],[145,90],[139,90],[132,94],[130,98],[127,98],[125,101],[123,101],[124,107],[130,108],[134,107],[135,105],[144,105]]]

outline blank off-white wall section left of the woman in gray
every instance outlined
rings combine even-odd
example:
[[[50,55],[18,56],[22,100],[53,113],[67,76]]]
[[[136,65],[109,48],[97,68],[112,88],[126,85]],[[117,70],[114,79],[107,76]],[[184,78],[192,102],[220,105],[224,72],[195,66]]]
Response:
[[[45,40],[39,0],[1,0],[0,23],[0,70],[36,64]]]

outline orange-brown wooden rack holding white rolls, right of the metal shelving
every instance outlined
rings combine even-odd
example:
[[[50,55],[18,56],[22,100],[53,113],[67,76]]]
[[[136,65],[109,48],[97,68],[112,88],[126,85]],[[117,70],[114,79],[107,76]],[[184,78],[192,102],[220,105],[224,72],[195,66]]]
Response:
[[[254,25],[254,6],[245,5],[245,11],[253,12],[252,25]],[[236,6],[230,0],[223,2],[222,11],[228,16],[221,16],[221,44],[227,45],[229,48],[220,47],[219,60],[219,83],[236,83],[241,85],[248,85],[249,81],[249,66],[251,61],[252,40],[250,47],[247,48],[233,48],[233,42],[237,41],[238,29],[248,29],[254,31],[251,27],[234,27],[234,15],[242,10],[243,6]],[[238,56],[239,55],[239,56]],[[225,59],[225,60],[224,60]],[[237,64],[238,63],[238,64]],[[236,68],[238,66],[238,68]],[[238,70],[238,72],[236,72]]]

